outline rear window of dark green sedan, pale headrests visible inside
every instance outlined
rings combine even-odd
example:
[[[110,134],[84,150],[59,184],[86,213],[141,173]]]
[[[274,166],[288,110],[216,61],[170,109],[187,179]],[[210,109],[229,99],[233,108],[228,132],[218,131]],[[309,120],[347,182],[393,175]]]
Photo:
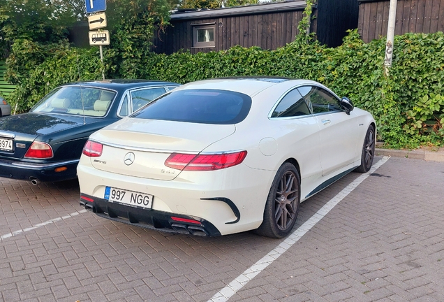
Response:
[[[41,99],[31,112],[103,117],[114,96],[116,92],[93,87],[59,87]]]

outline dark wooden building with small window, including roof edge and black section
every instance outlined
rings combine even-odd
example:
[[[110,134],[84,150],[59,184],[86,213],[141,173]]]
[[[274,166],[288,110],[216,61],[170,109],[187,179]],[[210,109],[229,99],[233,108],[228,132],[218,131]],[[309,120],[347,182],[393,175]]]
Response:
[[[295,40],[306,1],[260,3],[172,13],[170,27],[154,36],[153,51],[171,54],[226,50],[253,45],[275,50]],[[357,0],[317,0],[310,31],[321,43],[341,45],[347,29],[357,28]]]

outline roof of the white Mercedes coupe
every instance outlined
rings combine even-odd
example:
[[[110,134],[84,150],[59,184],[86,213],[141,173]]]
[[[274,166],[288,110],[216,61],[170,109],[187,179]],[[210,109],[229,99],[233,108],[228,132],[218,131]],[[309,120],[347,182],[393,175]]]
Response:
[[[228,90],[232,92],[240,92],[248,96],[254,96],[259,92],[278,85],[296,86],[296,85],[312,85],[319,84],[311,80],[300,80],[291,78],[266,77],[266,76],[248,76],[248,77],[230,77],[230,78],[216,78],[211,80],[201,80],[197,82],[190,82],[182,85],[176,90],[182,89],[219,89]]]

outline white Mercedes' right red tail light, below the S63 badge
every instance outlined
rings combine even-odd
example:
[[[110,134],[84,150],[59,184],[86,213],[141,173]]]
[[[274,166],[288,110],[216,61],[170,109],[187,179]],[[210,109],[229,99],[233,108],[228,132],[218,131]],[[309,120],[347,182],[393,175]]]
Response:
[[[223,154],[172,153],[165,166],[183,171],[213,171],[236,166],[246,157],[246,151]]]

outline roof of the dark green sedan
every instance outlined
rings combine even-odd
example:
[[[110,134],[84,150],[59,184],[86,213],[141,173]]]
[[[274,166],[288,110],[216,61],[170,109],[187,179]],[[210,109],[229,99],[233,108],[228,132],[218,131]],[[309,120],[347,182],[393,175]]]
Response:
[[[108,89],[128,89],[144,87],[147,85],[179,85],[175,82],[165,82],[159,80],[128,80],[128,79],[115,79],[115,80],[90,80],[83,82],[69,82],[61,86],[93,86]]]

